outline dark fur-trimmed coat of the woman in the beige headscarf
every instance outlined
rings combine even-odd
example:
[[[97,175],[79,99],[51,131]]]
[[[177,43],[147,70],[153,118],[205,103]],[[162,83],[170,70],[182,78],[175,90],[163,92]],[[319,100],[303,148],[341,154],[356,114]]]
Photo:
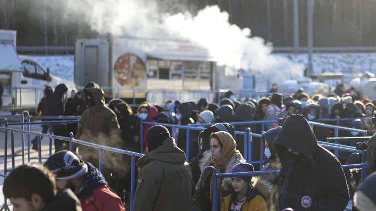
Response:
[[[203,158],[200,160],[199,168],[201,170],[201,177],[196,184],[195,193],[193,196],[193,203],[195,206],[201,209],[201,211],[210,211],[211,210],[211,201],[210,196],[210,179],[212,174],[206,172],[205,175],[202,175],[202,171],[208,167],[213,166],[210,162],[211,153],[203,154]],[[232,167],[238,163],[245,163],[245,160],[239,153],[233,154],[232,158],[227,162],[226,167],[223,172],[220,173],[231,173]],[[217,172],[219,174],[219,172]],[[225,197],[232,191],[231,178],[223,178],[221,180],[221,196]],[[202,181],[204,181],[202,185]]]

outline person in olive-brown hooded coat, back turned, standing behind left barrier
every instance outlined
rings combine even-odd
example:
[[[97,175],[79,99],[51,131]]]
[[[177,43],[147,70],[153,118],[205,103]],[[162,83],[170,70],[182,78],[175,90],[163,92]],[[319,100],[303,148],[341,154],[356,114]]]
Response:
[[[124,149],[116,114],[104,105],[103,90],[88,88],[84,92],[88,108],[81,116],[77,139]],[[93,164],[95,167],[98,166],[97,149],[79,146],[79,153],[82,160]],[[129,173],[130,168],[129,165],[124,163],[124,157],[124,155],[104,151],[103,175],[108,182],[110,182],[110,178],[122,177]],[[121,168],[119,168],[120,166]]]

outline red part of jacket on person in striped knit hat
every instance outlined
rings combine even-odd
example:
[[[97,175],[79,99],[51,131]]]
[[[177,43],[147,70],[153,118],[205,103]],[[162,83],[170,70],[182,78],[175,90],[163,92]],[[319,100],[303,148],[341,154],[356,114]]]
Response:
[[[81,200],[82,211],[125,211],[121,199],[106,185],[100,186],[92,194]]]

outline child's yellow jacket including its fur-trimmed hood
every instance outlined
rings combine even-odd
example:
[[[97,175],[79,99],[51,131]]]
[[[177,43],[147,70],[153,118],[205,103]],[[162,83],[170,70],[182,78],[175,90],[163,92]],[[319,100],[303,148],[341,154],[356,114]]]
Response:
[[[245,202],[240,211],[270,211],[267,209],[265,202],[265,199],[268,199],[271,194],[270,184],[257,177],[252,177],[251,184],[252,188],[248,188]],[[232,197],[235,197],[235,194],[230,194],[223,198],[220,211],[231,211]]]

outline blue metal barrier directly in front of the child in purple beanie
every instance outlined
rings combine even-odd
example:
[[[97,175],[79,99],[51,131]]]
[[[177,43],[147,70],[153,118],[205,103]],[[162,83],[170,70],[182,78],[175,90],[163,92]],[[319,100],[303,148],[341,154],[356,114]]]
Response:
[[[353,164],[353,165],[343,165],[342,169],[358,169],[361,168],[362,171],[362,180],[365,178],[366,174],[366,168],[369,166],[369,164]],[[258,171],[258,172],[240,172],[240,173],[223,173],[218,174],[215,171],[215,168],[212,166],[206,167],[202,171],[202,175],[205,174],[206,171],[212,172],[212,211],[217,211],[217,195],[218,190],[216,186],[216,181],[218,178],[233,178],[233,177],[244,177],[244,176],[261,176],[261,175],[272,175],[272,174],[278,174],[279,170],[271,170],[271,171]],[[204,185],[205,181],[202,180],[202,186]],[[219,190],[220,191],[220,190]]]

